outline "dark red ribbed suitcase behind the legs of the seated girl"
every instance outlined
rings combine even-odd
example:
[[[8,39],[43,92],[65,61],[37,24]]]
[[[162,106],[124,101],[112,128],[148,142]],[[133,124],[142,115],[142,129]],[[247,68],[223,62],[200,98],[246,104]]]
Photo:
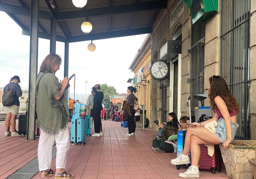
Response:
[[[221,172],[222,157],[219,145],[214,145],[214,154],[208,155],[208,147],[200,145],[201,155],[199,159],[199,169],[210,170],[213,174]]]

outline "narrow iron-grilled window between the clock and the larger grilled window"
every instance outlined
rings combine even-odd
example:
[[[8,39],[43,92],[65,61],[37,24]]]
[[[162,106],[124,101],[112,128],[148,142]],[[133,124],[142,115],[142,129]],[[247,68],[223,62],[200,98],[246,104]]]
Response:
[[[190,104],[191,116],[195,116],[195,107],[204,106],[193,97],[194,94],[204,93],[204,47],[205,23],[192,25],[191,30],[191,58],[190,58]],[[196,122],[198,119],[196,119]]]

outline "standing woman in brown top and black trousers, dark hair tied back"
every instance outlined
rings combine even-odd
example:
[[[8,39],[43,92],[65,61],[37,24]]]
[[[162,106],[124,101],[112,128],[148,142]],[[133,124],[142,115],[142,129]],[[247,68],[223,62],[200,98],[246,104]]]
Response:
[[[127,88],[127,93],[129,93],[129,95],[126,98],[126,101],[130,107],[130,112],[131,112],[131,115],[127,116],[128,130],[129,130],[129,132],[127,133],[127,136],[135,136],[135,118],[134,118],[135,110],[133,107],[134,107],[134,100],[137,101],[138,98],[133,93],[136,93],[136,91],[137,89],[132,86],[129,86]]]

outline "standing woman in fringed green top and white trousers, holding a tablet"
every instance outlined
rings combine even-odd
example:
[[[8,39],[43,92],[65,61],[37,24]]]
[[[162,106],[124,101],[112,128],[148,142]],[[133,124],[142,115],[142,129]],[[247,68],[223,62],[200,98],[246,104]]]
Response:
[[[69,78],[58,80],[55,73],[59,70],[61,58],[49,54],[41,64],[36,80],[37,126],[41,130],[38,144],[39,171],[41,177],[55,175],[54,178],[74,178],[64,171],[66,168],[67,152],[70,145],[68,129],[69,108],[64,96]],[[56,142],[56,171],[51,167],[52,146]]]

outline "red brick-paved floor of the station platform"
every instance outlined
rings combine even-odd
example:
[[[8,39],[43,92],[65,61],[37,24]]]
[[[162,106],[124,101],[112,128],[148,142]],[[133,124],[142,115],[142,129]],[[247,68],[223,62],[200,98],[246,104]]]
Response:
[[[176,179],[184,172],[172,165],[176,153],[155,153],[152,139],[157,132],[151,128],[136,128],[135,136],[126,136],[128,128],[121,122],[102,121],[103,137],[86,137],[86,144],[70,145],[66,171],[75,178],[88,179]],[[16,124],[18,129],[18,122]],[[70,129],[70,123],[69,123]],[[4,123],[0,123],[0,178],[25,179],[40,177],[37,163],[39,138],[30,141],[26,137],[5,137]],[[91,133],[94,128],[91,129]],[[55,146],[53,146],[53,151]],[[52,170],[55,170],[53,152]],[[45,177],[45,178],[54,178]],[[224,164],[220,173],[200,171],[202,179],[228,178]]]

